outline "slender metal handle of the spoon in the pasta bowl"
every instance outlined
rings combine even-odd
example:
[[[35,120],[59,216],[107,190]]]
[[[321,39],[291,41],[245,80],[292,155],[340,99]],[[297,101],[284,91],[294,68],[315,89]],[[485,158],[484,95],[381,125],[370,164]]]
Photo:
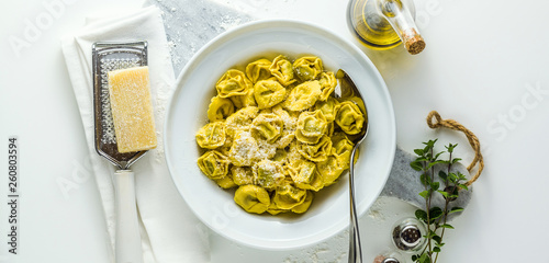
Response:
[[[350,227],[349,227],[349,263],[362,263],[362,249],[360,245],[360,231],[358,229],[357,208],[355,206],[355,152],[357,144],[350,155],[349,168],[349,201],[350,201]]]

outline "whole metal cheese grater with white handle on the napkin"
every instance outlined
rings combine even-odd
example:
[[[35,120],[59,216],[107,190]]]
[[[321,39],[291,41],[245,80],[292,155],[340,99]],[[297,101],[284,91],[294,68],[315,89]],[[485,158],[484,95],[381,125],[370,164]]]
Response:
[[[143,262],[134,173],[128,169],[146,151],[121,153],[117,150],[108,73],[111,70],[139,66],[147,66],[147,42],[94,43],[92,46],[96,150],[120,169],[113,178],[116,202],[116,262]]]

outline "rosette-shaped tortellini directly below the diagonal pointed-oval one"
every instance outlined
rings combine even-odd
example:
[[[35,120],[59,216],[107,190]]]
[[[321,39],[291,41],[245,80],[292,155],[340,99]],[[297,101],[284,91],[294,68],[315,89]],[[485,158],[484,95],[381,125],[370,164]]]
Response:
[[[303,112],[298,118],[295,138],[305,144],[316,144],[326,133],[328,122],[321,111]]]

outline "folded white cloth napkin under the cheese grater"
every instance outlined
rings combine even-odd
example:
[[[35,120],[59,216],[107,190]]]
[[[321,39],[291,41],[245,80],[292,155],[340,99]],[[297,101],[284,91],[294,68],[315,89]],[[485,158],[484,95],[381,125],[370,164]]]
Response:
[[[158,136],[150,150],[131,169],[139,214],[145,262],[208,262],[208,230],[177,192],[163,149],[163,126],[168,98],[173,89],[173,69],[160,11],[155,7],[123,11],[116,15],[88,18],[86,26],[61,39],[70,81],[82,116],[90,160],[104,208],[109,250],[114,251],[114,165],[99,157],[93,140],[91,45],[94,42],[148,42],[148,66]],[[105,235],[107,236],[107,235]],[[114,261],[113,256],[111,256]]]

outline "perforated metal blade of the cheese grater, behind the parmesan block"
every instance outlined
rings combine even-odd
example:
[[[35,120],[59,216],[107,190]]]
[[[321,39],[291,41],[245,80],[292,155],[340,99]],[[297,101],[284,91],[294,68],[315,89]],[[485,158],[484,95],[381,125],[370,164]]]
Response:
[[[147,66],[147,42],[98,42],[92,46],[96,150],[122,170],[128,169],[147,151],[119,152],[111,113],[108,72],[139,66]]]

